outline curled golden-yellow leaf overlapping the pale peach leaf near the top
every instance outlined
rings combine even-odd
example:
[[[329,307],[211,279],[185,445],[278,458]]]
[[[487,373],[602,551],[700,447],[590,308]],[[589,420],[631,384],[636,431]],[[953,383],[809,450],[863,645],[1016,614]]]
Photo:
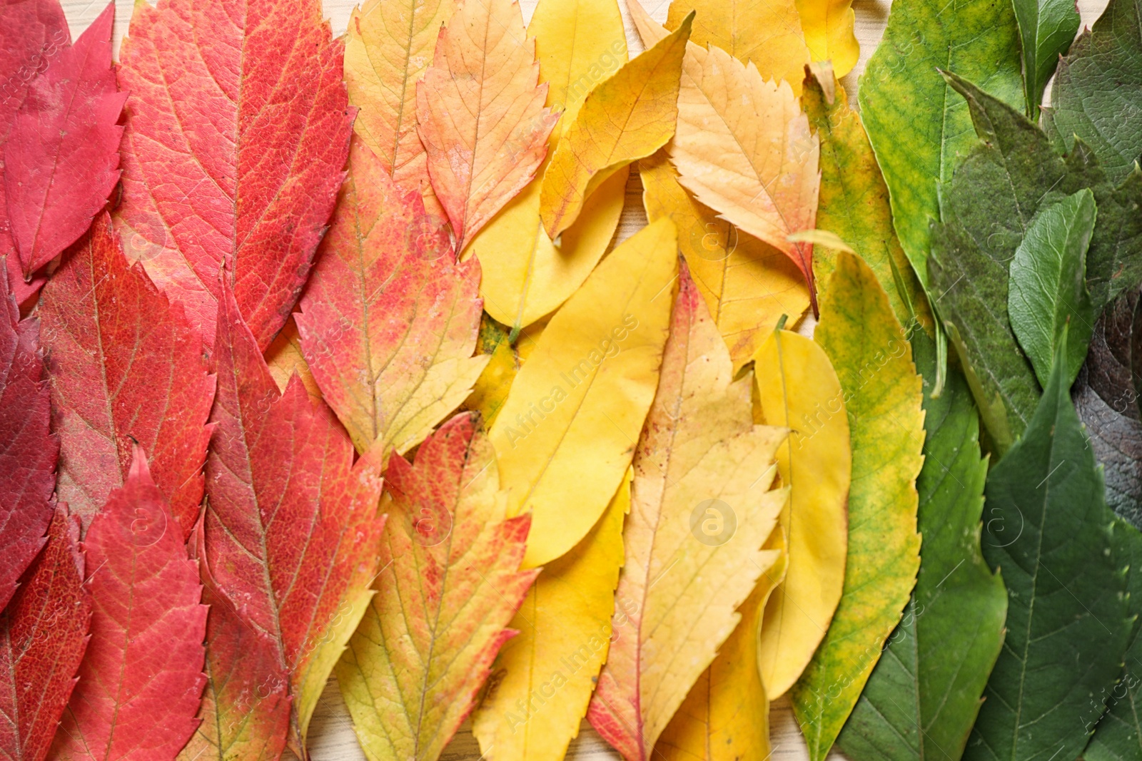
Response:
[[[540,213],[552,238],[574,222],[601,183],[674,135],[678,73],[692,21],[687,17],[587,96],[544,175]]]

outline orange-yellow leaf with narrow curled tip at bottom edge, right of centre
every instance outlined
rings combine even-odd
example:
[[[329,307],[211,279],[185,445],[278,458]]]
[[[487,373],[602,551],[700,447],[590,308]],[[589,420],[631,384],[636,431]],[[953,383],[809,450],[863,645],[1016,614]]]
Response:
[[[656,759],[764,761],[770,758],[770,701],[757,661],[757,634],[765,602],[785,576],[788,554],[780,531],[773,532],[766,548],[780,551],[780,558],[762,574],[749,599],[738,609],[741,623],[659,737]]]

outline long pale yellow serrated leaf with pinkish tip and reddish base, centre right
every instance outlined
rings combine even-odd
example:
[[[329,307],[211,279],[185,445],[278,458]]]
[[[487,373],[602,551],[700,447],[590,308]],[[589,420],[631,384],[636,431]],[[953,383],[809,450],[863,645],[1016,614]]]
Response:
[[[753,379],[732,380],[730,353],[685,267],[679,280],[624,529],[616,600],[633,605],[616,608],[621,635],[587,712],[627,761],[651,756],[738,625],[738,606],[778,561],[762,545],[788,496],[770,489],[786,430],[754,426]]]

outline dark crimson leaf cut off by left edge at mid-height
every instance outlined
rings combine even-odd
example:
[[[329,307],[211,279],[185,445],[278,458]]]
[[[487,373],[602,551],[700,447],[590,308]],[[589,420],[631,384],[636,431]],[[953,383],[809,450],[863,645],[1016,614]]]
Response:
[[[46,541],[51,523],[59,440],[48,430],[40,325],[19,319],[16,301],[0,292],[0,610]]]

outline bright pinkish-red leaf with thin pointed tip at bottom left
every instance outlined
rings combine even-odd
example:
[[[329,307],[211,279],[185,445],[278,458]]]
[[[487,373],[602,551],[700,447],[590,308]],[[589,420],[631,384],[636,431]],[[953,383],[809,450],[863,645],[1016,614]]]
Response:
[[[198,564],[135,446],[83,540],[91,641],[53,758],[170,760],[199,722],[207,608]]]

